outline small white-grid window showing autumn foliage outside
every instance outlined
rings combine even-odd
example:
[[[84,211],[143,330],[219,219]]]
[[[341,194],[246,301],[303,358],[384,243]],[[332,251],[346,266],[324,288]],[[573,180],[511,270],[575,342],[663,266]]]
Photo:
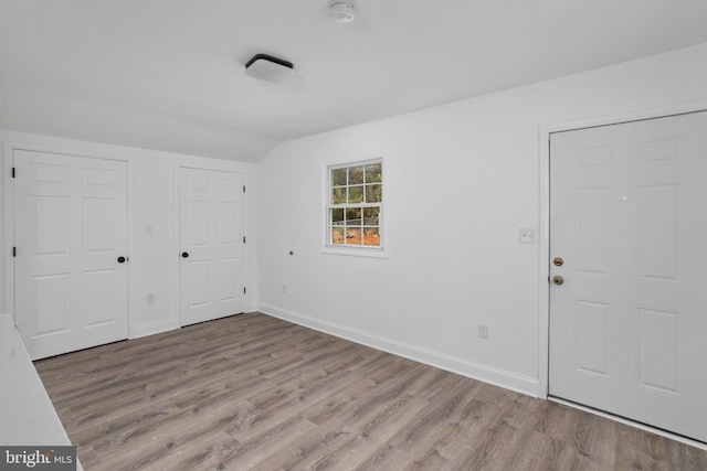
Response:
[[[327,244],[382,247],[381,160],[328,168]]]

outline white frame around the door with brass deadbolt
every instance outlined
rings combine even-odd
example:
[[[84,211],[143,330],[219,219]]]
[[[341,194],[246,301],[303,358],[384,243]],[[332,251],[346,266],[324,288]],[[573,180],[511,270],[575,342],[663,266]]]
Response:
[[[538,397],[548,398],[550,384],[550,135],[597,126],[616,125],[643,119],[707,110],[707,100],[602,116],[578,121],[540,126],[539,142],[539,231],[538,231]]]

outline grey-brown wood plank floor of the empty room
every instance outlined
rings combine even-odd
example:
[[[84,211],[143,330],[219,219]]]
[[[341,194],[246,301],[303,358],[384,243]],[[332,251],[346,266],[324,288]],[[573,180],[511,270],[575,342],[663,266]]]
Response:
[[[707,470],[707,452],[260,313],[35,363],[92,470]]]

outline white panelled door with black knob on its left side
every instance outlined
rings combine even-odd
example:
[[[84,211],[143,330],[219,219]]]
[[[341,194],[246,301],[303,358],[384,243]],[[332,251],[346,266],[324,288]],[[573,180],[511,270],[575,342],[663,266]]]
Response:
[[[244,312],[243,174],[180,169],[179,191],[181,324]]]

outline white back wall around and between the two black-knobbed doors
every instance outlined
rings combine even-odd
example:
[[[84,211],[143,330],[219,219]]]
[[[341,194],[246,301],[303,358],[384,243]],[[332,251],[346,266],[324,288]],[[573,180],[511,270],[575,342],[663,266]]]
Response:
[[[233,162],[219,159],[209,159],[194,156],[157,152],[145,149],[108,146],[86,141],[59,139],[48,136],[28,135],[13,131],[0,131],[4,151],[8,152],[11,143],[31,146],[39,150],[63,152],[81,156],[94,156],[103,158],[124,159],[128,162],[129,186],[129,229],[130,229],[130,261],[129,261],[129,315],[130,336],[148,335],[179,327],[178,306],[178,257],[179,247],[177,238],[177,172],[179,167],[194,167],[212,170],[225,170],[243,172],[250,191],[246,193],[246,234],[247,263],[249,263],[249,306],[251,310],[256,307],[256,265],[255,265],[255,196],[256,196],[256,167],[250,163]],[[10,159],[4,159],[3,171],[11,165]],[[8,189],[11,180],[2,179],[0,194]],[[4,206],[4,205],[3,205]],[[0,217],[3,224],[0,235],[2,240],[2,254],[8,255],[11,243],[11,228],[4,225],[9,223]],[[151,225],[154,234],[145,234],[145,226]],[[7,224],[9,226],[9,224]],[[2,291],[6,295],[0,299],[0,311],[11,312],[11,296],[7,295],[11,279],[11,260],[9,257],[0,258],[3,278]],[[8,282],[6,282],[8,281]],[[147,304],[147,295],[155,295],[155,303]],[[1,296],[1,295],[0,295]]]

